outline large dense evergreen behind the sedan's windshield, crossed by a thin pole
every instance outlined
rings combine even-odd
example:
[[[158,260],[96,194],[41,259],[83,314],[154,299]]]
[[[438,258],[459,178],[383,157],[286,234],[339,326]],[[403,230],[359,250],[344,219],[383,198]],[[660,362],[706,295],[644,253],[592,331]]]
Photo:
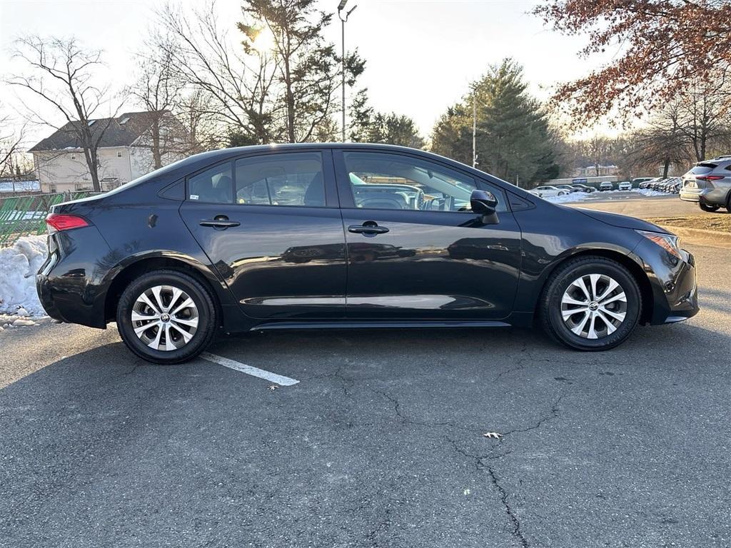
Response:
[[[532,183],[557,173],[553,135],[540,104],[526,92],[523,69],[505,59],[442,115],[432,134],[436,153],[471,164],[472,102],[477,104],[477,164],[505,180]]]

